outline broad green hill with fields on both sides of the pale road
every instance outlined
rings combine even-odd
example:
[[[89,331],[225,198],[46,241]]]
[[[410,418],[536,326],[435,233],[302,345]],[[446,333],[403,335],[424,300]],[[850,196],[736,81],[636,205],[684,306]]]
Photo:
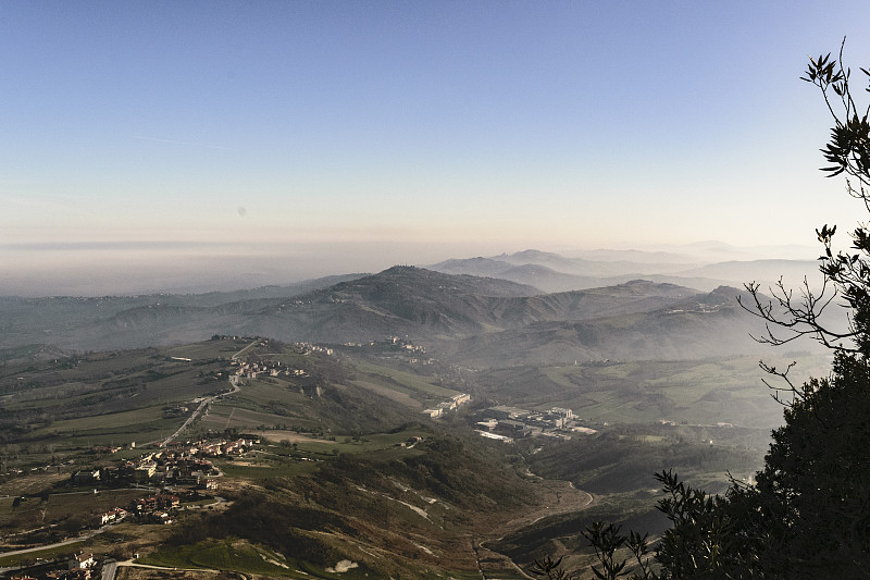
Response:
[[[8,414],[0,430],[14,447],[5,457],[17,465],[45,465],[40,457],[61,460],[95,445],[162,441],[184,423],[196,399],[231,390],[231,359],[237,354],[238,361],[279,361],[282,370],[304,374],[241,379],[240,391],[214,399],[185,436],[227,429],[372,433],[413,420],[424,405],[458,393],[440,379],[408,370],[341,363],[298,346],[262,343],[216,340],[10,363],[0,369],[0,400]],[[331,453],[325,445],[311,451]]]

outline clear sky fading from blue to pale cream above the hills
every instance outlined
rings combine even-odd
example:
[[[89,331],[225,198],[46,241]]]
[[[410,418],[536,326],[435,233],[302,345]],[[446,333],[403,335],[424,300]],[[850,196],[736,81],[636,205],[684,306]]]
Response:
[[[799,76],[844,37],[870,64],[867,22],[863,1],[11,0],[0,263],[21,293],[92,294],[812,247],[865,215],[818,171],[831,119]]]

